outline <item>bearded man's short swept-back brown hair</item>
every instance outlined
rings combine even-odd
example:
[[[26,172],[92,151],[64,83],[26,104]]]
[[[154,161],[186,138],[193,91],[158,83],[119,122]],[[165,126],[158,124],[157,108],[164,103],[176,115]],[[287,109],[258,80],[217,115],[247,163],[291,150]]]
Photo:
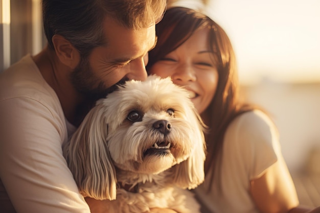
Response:
[[[84,56],[107,42],[106,17],[138,30],[161,20],[165,8],[166,0],[42,0],[44,33],[52,50],[52,37],[59,34]]]

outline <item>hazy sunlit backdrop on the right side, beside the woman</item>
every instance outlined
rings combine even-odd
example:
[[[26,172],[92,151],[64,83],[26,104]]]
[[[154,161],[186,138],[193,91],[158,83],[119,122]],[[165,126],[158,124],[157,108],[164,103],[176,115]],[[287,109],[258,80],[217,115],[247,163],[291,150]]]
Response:
[[[320,148],[320,1],[212,0],[205,11],[232,40],[244,98],[279,128],[289,169],[311,169]]]

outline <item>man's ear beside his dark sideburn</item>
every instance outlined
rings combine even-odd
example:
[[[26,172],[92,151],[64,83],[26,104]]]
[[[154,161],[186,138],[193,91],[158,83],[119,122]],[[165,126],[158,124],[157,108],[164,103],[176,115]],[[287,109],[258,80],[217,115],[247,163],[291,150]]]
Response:
[[[80,62],[79,51],[61,35],[54,35],[52,42],[61,63],[74,69]]]

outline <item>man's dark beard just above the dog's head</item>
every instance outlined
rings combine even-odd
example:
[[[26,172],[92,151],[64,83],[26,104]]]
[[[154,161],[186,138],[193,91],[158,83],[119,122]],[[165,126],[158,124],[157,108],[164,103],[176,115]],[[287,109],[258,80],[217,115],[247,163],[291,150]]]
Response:
[[[118,86],[124,84],[127,80],[127,78],[123,78],[107,88],[105,83],[94,75],[87,59],[81,59],[78,66],[71,73],[73,86],[89,102],[96,102],[98,99],[105,98],[107,94],[117,90]]]

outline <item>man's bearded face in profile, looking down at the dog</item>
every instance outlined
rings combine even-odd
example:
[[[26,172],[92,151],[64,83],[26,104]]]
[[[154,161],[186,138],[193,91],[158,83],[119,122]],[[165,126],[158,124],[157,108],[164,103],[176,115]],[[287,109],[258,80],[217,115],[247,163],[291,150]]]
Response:
[[[145,80],[148,51],[155,43],[155,26],[130,30],[115,20],[104,20],[106,46],[95,48],[71,74],[75,88],[86,97],[98,99],[126,80]]]

